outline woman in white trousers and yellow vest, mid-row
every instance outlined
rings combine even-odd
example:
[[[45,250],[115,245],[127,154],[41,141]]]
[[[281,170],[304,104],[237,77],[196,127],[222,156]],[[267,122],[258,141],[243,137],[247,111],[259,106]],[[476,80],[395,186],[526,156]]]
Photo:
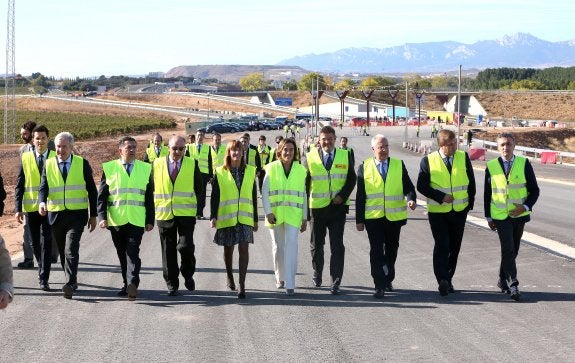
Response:
[[[278,160],[266,165],[262,200],[266,226],[272,236],[276,287],[293,295],[297,272],[297,237],[307,223],[306,169],[295,161],[297,146],[283,139],[277,148]]]

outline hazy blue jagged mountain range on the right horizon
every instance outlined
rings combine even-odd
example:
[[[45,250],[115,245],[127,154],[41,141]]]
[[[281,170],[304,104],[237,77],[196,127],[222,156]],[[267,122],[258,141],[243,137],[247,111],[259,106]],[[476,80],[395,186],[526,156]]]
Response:
[[[548,68],[575,66],[575,40],[548,42],[517,33],[473,44],[433,42],[390,48],[346,48],[289,58],[279,65],[338,73],[447,72],[470,68]]]

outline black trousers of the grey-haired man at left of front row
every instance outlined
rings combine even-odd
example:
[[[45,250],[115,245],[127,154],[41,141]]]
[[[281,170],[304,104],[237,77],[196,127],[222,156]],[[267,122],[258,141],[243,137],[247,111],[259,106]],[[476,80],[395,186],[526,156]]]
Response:
[[[62,213],[64,214],[64,213]],[[60,263],[66,275],[66,284],[78,282],[78,263],[80,262],[80,239],[86,226],[85,218],[74,215],[61,215],[52,224],[52,238],[56,240]]]

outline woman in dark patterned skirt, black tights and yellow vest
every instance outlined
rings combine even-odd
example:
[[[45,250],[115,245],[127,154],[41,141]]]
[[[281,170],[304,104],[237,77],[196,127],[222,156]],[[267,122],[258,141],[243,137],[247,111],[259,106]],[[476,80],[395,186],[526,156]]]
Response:
[[[248,246],[254,243],[254,231],[258,230],[256,168],[246,165],[243,155],[243,146],[239,141],[228,143],[224,165],[215,170],[210,216],[210,225],[216,228],[214,242],[224,246],[228,288],[232,291],[236,290],[232,258],[234,246],[238,245],[240,299],[246,297]]]

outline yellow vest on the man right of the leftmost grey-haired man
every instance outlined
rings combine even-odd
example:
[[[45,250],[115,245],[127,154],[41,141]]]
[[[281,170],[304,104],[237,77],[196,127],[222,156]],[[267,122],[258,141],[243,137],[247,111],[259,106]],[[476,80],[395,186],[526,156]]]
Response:
[[[106,175],[108,196],[108,225],[123,226],[128,223],[144,227],[146,224],[145,195],[150,182],[152,166],[135,160],[130,175],[122,160],[116,159],[102,164]]]

